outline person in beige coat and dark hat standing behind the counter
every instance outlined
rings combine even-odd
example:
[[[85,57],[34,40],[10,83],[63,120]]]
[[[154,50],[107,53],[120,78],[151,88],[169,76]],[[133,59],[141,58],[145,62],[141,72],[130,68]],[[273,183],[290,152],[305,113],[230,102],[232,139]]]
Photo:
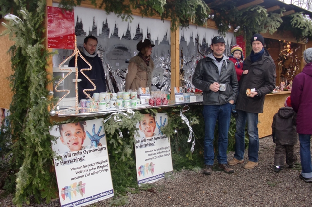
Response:
[[[128,74],[126,76],[126,91],[136,91],[140,87],[151,87],[154,62],[151,58],[152,47],[155,45],[145,39],[137,44],[139,53],[129,61]]]

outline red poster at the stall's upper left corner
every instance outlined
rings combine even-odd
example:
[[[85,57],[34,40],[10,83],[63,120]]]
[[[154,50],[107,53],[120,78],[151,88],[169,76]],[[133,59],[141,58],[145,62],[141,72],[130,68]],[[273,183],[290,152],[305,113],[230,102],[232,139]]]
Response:
[[[48,6],[48,48],[74,49],[74,10]]]

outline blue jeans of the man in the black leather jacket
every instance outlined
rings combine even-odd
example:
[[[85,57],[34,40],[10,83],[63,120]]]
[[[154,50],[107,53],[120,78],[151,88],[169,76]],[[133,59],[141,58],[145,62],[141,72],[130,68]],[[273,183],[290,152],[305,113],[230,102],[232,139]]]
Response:
[[[219,164],[227,164],[228,149],[228,132],[230,127],[232,104],[226,103],[223,105],[205,105],[203,110],[205,120],[205,140],[204,140],[204,161],[205,165],[213,165],[215,159],[214,151],[214,134],[215,125],[218,120],[219,138],[218,149],[219,154],[217,160]]]

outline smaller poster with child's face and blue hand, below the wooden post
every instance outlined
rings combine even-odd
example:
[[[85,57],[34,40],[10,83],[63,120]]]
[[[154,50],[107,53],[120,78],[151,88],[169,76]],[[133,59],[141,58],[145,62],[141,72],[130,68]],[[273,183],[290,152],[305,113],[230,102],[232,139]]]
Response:
[[[138,136],[135,136],[138,185],[155,182],[173,170],[170,140],[161,132],[161,127],[168,124],[168,115],[143,115],[136,125],[139,131]]]

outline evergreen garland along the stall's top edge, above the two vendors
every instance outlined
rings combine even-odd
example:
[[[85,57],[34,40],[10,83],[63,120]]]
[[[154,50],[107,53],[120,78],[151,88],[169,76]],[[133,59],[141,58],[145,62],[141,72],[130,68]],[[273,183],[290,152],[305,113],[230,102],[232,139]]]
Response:
[[[96,0],[61,0],[60,5],[66,9],[73,9],[82,1],[89,1],[95,7],[103,8],[107,13],[114,12],[125,20],[132,20],[131,7],[139,9],[142,17],[150,17],[155,14],[161,16],[161,20],[171,19],[171,30],[188,27],[189,23],[202,26],[207,23],[209,8],[203,0],[102,0],[97,5]]]

